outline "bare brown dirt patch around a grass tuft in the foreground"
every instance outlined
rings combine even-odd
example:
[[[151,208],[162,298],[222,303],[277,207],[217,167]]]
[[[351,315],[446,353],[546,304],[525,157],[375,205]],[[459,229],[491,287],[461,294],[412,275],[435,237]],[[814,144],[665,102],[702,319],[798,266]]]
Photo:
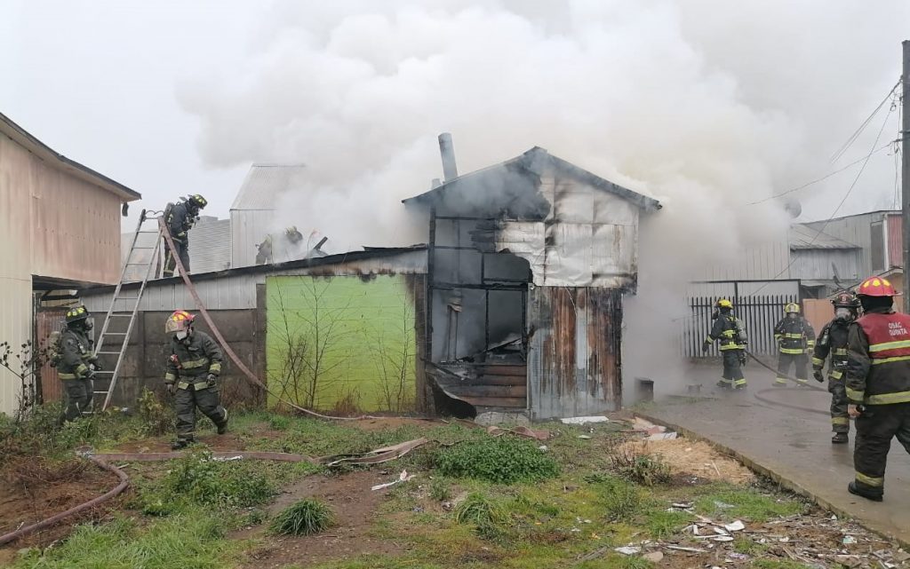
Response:
[[[268,537],[265,525],[231,534],[237,539],[263,538],[266,544],[247,554],[241,567],[271,569],[287,564],[315,564],[348,559],[359,554],[397,554],[401,548],[369,535],[376,509],[388,490],[371,491],[373,484],[389,482],[394,474],[360,471],[336,478],[315,476],[288,486],[268,507],[270,515],[303,498],[319,498],[329,504],[336,524],[325,534],[301,537]]]

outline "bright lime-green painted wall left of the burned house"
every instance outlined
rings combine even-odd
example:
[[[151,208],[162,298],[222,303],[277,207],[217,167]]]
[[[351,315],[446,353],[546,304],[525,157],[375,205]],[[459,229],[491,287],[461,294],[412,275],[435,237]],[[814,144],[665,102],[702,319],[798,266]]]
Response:
[[[266,323],[268,385],[282,398],[323,411],[414,410],[417,340],[404,276],[270,276]]]

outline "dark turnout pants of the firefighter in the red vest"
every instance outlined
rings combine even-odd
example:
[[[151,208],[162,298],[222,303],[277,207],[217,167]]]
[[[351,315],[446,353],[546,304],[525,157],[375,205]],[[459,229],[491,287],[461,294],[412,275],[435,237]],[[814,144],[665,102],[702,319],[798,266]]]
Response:
[[[854,469],[864,494],[885,494],[885,463],[895,436],[910,453],[910,403],[866,405],[856,417]]]

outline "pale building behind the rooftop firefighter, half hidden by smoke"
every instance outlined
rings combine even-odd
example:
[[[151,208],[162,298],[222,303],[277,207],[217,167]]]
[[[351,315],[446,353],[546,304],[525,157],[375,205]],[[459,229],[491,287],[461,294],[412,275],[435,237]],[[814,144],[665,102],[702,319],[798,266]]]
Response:
[[[250,166],[230,207],[232,267],[256,265],[257,245],[277,230],[280,196],[302,190],[305,175],[304,165]]]

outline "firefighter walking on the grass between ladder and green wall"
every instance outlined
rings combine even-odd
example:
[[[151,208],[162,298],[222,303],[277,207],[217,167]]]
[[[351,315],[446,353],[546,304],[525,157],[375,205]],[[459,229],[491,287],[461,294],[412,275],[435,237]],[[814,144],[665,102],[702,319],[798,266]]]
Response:
[[[227,433],[227,409],[218,396],[221,374],[221,348],[205,332],[193,327],[195,316],[177,310],[167,317],[165,333],[171,335],[171,354],[167,359],[165,384],[175,396],[177,440],[171,445],[181,449],[194,441],[196,408],[215,424],[218,434]]]

